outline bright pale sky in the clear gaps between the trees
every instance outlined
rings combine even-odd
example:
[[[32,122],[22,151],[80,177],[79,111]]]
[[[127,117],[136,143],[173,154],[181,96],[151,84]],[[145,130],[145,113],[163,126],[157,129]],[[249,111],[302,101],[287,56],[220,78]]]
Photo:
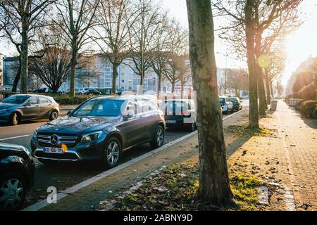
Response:
[[[156,0],[161,3],[163,8],[170,12],[170,15],[184,27],[188,27],[187,9],[185,0]],[[309,56],[317,56],[317,0],[304,0],[300,11],[304,24],[299,29],[290,34],[285,43],[287,60],[285,73],[282,76],[282,84],[287,84],[287,80],[299,65]],[[215,21],[216,22],[216,21]],[[216,25],[216,24],[215,24]],[[216,25],[217,26],[217,25]],[[225,68],[225,52],[227,46],[216,36],[215,41],[216,60],[218,68]],[[15,53],[14,46],[8,45],[8,42],[0,41],[0,53],[12,55]],[[237,61],[230,56],[227,58],[228,68],[245,67],[245,62]]]

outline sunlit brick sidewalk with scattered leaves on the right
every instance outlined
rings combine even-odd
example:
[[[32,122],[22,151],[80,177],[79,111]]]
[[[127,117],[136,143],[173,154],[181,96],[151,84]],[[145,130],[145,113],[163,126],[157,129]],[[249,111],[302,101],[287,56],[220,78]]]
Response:
[[[279,101],[277,111],[268,112],[260,124],[273,135],[252,137],[229,164],[235,162],[263,180],[285,186],[286,210],[317,210],[316,120]]]

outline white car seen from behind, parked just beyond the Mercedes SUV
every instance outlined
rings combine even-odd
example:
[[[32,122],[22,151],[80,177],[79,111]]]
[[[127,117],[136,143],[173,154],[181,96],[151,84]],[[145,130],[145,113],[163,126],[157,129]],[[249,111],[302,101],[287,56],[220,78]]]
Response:
[[[194,101],[175,99],[163,101],[166,127],[187,127],[189,131],[197,129]]]

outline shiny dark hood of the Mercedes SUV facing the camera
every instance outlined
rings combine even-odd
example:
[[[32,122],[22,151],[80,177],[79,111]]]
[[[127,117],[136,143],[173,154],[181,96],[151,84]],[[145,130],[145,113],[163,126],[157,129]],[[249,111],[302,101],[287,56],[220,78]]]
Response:
[[[57,120],[53,120],[39,127],[39,131],[72,131],[74,133],[93,129],[100,124],[106,124],[118,120],[118,117],[73,117],[65,116]]]

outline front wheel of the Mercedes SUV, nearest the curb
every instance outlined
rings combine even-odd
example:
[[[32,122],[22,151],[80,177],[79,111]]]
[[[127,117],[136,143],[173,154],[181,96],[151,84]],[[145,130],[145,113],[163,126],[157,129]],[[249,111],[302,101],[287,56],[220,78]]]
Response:
[[[106,141],[104,157],[102,159],[106,168],[113,168],[118,165],[121,157],[121,143],[116,137],[111,137]]]

